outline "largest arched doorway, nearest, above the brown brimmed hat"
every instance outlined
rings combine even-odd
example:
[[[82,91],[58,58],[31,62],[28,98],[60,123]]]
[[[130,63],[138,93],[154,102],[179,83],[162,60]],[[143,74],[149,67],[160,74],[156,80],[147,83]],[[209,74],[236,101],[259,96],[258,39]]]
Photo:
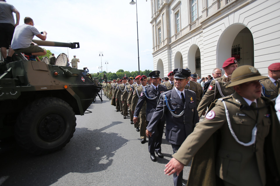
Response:
[[[254,43],[251,31],[244,24],[233,24],[225,29],[217,44],[217,67],[227,58],[235,57],[238,66],[254,66]]]

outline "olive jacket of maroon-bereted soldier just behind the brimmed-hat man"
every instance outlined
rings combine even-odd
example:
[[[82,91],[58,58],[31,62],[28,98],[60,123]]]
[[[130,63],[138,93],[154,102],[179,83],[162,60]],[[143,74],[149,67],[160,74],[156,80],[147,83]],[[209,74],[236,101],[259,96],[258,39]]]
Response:
[[[204,94],[204,96],[202,97],[202,99],[197,107],[199,117],[202,116],[202,113],[206,110],[206,108],[210,105],[210,103],[212,101],[214,101],[215,99],[225,97],[225,96],[229,96],[234,93],[233,87],[229,87],[229,88],[225,87],[226,85],[229,84],[229,82],[227,82],[227,83],[223,82],[225,78],[226,78],[225,75],[223,75],[220,78],[216,78],[215,80],[212,80],[212,82],[210,83],[210,85],[208,87],[207,92]],[[220,84],[220,88],[221,88],[223,96],[220,95],[218,87],[216,86],[216,81],[218,81],[217,83]]]

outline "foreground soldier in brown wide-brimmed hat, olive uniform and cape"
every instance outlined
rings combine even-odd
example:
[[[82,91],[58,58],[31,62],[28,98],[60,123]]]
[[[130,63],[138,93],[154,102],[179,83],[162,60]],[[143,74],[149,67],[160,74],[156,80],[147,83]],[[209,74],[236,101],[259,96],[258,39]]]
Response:
[[[192,160],[188,185],[280,185],[280,125],[272,101],[261,97],[259,82],[267,78],[255,67],[238,67],[226,86],[234,94],[210,107],[165,174],[179,174]]]

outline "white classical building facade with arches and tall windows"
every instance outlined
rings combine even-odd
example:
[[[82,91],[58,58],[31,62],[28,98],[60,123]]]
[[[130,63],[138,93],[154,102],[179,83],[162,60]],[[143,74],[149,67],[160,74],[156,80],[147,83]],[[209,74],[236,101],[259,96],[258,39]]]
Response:
[[[279,0],[151,0],[151,9],[161,77],[185,67],[207,76],[232,56],[262,74],[280,62]]]

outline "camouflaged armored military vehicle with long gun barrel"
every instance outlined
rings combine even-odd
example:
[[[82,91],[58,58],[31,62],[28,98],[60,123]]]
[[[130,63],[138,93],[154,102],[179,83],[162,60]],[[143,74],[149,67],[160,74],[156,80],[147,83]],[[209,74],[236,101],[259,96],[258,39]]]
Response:
[[[79,47],[79,43],[34,42]],[[60,60],[60,64],[65,63]],[[101,87],[84,76],[83,70],[62,65],[20,59],[0,66],[4,68],[0,74],[0,140],[14,136],[23,149],[34,154],[56,151],[70,141],[75,115],[84,115]]]

